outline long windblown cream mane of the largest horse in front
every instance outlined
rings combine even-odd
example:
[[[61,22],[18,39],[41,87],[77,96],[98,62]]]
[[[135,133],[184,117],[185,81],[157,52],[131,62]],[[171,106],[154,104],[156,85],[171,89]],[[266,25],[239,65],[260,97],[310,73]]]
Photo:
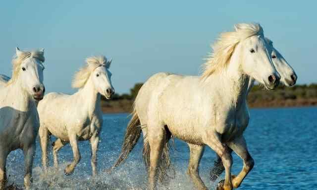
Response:
[[[203,64],[202,78],[210,76],[213,72],[221,70],[229,63],[231,55],[235,46],[251,36],[262,35],[263,28],[258,23],[252,24],[236,24],[234,25],[235,31],[223,32],[216,42],[211,46],[212,53]]]

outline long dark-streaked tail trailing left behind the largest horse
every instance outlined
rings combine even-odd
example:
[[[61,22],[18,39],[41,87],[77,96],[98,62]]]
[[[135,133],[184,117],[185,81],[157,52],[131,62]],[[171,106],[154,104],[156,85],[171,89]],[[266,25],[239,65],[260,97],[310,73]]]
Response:
[[[131,113],[132,118],[128,124],[127,131],[125,132],[123,144],[121,148],[121,153],[116,160],[115,164],[110,168],[110,170],[118,167],[129,155],[132,151],[136,143],[138,142],[141,135],[141,123],[138,117],[136,108],[134,106],[133,111]]]

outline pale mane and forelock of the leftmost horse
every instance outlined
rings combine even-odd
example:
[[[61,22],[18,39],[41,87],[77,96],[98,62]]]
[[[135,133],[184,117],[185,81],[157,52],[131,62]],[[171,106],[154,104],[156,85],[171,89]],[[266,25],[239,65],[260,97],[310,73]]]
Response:
[[[19,75],[20,71],[20,65],[22,64],[23,60],[27,58],[36,58],[40,60],[42,63],[45,62],[44,53],[42,51],[32,51],[32,52],[22,52],[19,54],[19,56],[15,55],[12,60],[12,77],[11,79],[6,83],[6,85],[10,85],[13,82],[16,81]]]

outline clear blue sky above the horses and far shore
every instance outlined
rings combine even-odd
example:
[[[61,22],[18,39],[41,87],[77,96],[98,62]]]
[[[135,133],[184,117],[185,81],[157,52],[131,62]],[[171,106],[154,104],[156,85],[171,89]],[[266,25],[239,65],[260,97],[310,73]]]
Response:
[[[0,7],[0,73],[15,46],[45,48],[47,91],[72,93],[74,72],[93,55],[112,58],[112,84],[128,92],[159,71],[197,75],[210,44],[239,22],[259,22],[298,74],[317,82],[317,1],[5,0]]]

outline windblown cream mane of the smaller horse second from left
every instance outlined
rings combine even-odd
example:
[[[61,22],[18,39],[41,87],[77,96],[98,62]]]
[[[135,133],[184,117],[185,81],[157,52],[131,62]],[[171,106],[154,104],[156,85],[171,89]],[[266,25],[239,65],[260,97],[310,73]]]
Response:
[[[107,61],[105,56],[89,57],[86,59],[86,65],[79,69],[74,75],[72,87],[82,88],[85,86],[87,80],[93,72],[99,66],[105,66],[109,68],[111,60]]]

